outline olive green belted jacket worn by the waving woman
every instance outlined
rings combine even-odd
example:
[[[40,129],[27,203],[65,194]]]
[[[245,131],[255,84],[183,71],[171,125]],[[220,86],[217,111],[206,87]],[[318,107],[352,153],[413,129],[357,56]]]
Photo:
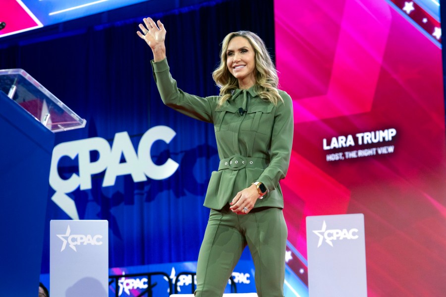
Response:
[[[153,75],[163,102],[194,119],[214,124],[220,157],[218,171],[209,181],[204,206],[221,209],[237,192],[254,181],[270,192],[257,199],[255,207],[283,208],[279,180],[288,170],[293,143],[293,106],[288,94],[279,90],[283,103],[274,106],[262,100],[254,88],[237,89],[217,109],[220,96],[198,97],[176,86],[167,59],[152,60]],[[247,110],[240,115],[239,108]]]

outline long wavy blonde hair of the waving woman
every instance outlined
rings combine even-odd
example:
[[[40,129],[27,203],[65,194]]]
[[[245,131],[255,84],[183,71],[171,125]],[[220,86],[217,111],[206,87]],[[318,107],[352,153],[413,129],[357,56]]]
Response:
[[[231,98],[233,90],[238,88],[238,80],[229,72],[226,61],[226,51],[232,38],[241,36],[248,40],[255,52],[256,62],[256,84],[254,90],[259,94],[260,98],[269,101],[277,106],[278,102],[283,102],[277,90],[279,77],[277,76],[276,67],[271,60],[270,54],[263,40],[257,34],[250,31],[237,31],[226,35],[223,39],[222,50],[220,52],[220,65],[212,73],[212,77],[217,86],[220,87],[219,104],[220,108],[224,102]]]

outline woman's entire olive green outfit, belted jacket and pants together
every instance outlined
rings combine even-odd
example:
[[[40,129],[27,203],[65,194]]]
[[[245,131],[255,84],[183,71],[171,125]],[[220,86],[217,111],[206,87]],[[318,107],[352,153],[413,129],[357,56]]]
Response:
[[[167,59],[152,60],[153,75],[163,102],[194,119],[214,124],[220,157],[209,181],[204,206],[211,209],[197,264],[198,297],[223,295],[228,279],[246,245],[255,267],[259,297],[283,297],[287,229],[279,180],[285,177],[293,139],[293,109],[283,102],[264,101],[254,87],[236,89],[222,107],[219,96],[198,97],[176,86]],[[242,108],[246,113],[239,113]],[[237,215],[229,202],[254,181],[269,193],[252,210]]]

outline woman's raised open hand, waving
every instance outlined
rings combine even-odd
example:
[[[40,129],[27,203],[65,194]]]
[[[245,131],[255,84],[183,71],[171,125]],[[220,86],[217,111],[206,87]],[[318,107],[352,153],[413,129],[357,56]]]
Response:
[[[144,18],[144,25],[139,24],[140,31],[136,34],[141,39],[144,39],[149,47],[152,49],[155,61],[162,60],[166,57],[166,47],[164,41],[166,40],[166,28],[163,23],[158,20],[158,25],[150,17]]]

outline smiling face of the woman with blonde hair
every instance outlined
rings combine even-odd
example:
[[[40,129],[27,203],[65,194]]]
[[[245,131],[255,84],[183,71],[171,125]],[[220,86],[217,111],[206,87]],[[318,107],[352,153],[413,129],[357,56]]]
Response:
[[[249,41],[237,36],[229,41],[226,51],[226,66],[238,79],[240,89],[247,89],[256,83],[256,53]]]

